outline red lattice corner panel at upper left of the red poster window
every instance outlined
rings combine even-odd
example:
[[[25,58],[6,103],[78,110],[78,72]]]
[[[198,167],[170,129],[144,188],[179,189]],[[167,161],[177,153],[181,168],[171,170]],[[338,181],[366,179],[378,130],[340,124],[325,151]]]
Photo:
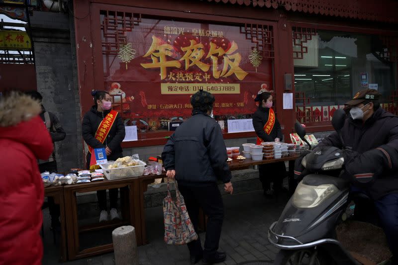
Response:
[[[119,44],[125,44],[125,32],[131,31],[141,22],[141,14],[100,11],[102,54],[117,54]]]

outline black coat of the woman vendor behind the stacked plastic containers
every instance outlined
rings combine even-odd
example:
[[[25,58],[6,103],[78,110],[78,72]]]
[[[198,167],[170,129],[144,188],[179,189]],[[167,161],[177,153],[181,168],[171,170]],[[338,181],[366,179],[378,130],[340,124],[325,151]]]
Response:
[[[281,124],[275,117],[274,128],[270,134],[266,134],[264,131],[264,125],[268,121],[269,108],[263,108],[259,106],[256,112],[253,114],[253,127],[258,137],[263,139],[264,142],[274,142],[275,138],[279,138],[282,141],[283,134],[281,130]]]

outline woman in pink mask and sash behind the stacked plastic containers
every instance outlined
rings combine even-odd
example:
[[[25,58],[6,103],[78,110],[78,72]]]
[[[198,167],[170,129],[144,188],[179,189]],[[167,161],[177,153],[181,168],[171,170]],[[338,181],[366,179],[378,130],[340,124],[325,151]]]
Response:
[[[262,142],[280,142],[283,134],[281,125],[272,109],[273,100],[270,92],[262,92],[254,99],[259,101],[258,109],[253,114],[253,127],[257,134],[257,144]],[[271,197],[273,191],[282,188],[283,178],[286,177],[286,166],[284,162],[259,165],[260,181],[263,184],[264,196]],[[274,189],[271,189],[271,181]]]

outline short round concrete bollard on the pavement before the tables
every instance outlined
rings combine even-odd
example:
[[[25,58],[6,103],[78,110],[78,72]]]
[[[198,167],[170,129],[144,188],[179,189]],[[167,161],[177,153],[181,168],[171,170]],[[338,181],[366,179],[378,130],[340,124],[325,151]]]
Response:
[[[115,265],[138,265],[135,228],[127,225],[113,230],[113,252]]]

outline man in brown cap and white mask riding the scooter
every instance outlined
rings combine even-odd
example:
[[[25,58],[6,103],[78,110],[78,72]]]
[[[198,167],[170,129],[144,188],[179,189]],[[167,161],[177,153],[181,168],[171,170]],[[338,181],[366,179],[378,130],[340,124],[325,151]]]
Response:
[[[341,135],[344,145],[355,152],[344,152],[343,177],[351,180],[353,191],[373,199],[393,253],[391,264],[398,264],[398,117],[380,107],[380,96],[375,89],[364,89],[346,103],[349,114]],[[332,133],[319,146],[343,144]],[[366,211],[371,206],[364,205]]]

